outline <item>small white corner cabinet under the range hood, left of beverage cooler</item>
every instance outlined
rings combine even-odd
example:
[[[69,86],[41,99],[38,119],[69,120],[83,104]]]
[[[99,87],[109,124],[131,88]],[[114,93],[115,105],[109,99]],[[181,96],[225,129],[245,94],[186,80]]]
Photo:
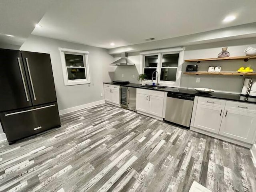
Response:
[[[104,84],[104,99],[116,105],[120,105],[120,86]]]

